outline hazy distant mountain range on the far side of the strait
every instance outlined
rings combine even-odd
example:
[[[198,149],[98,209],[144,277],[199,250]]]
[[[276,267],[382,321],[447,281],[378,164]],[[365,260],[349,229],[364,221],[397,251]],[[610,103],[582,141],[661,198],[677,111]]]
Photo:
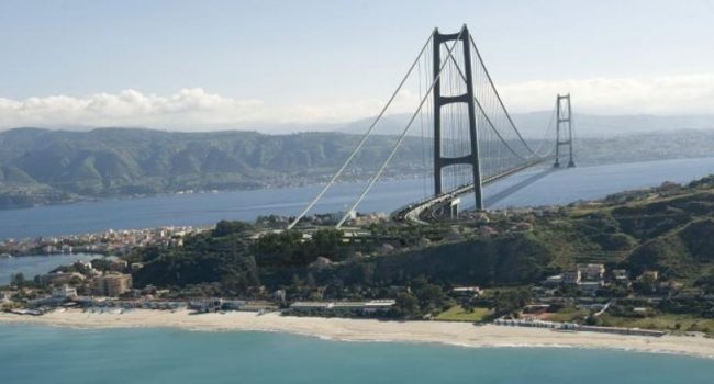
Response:
[[[0,133],[0,208],[186,190],[314,184],[328,180],[359,139],[359,135],[334,132],[265,135],[241,131],[11,129]],[[371,137],[341,181],[370,177],[395,140],[389,135]],[[432,160],[423,155],[428,157],[429,147],[431,143],[420,137],[408,137],[383,177],[428,172]],[[598,165],[710,157],[713,148],[714,129],[580,135],[576,161]]]

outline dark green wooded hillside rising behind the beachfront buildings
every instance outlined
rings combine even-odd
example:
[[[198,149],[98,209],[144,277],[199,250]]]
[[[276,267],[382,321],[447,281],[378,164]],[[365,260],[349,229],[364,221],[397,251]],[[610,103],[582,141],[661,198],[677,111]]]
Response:
[[[209,284],[231,294],[287,287],[295,297],[320,292],[345,298],[389,296],[394,286],[415,282],[522,286],[582,262],[634,275],[654,270],[665,281],[714,292],[712,213],[714,178],[705,178],[558,210],[493,213],[489,235],[472,223],[383,224],[368,228],[372,236],[364,241],[346,241],[332,229],[311,238],[286,231],[255,239],[261,230],[256,225],[222,222],[183,247],[142,250],[132,258],[145,263],[135,275],[140,285]]]

